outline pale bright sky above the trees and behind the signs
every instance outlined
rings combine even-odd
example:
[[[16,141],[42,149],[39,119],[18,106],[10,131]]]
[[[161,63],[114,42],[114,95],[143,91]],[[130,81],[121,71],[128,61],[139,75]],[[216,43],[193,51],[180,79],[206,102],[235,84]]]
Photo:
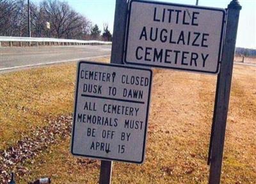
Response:
[[[33,2],[39,0],[31,0]],[[109,30],[113,31],[115,0],[62,0],[67,1],[76,11],[98,24],[103,29],[103,24],[108,23]],[[169,3],[193,4],[196,0],[161,0]],[[231,0],[199,0],[200,6],[227,8]],[[256,49],[256,0],[240,0],[243,9],[239,19],[237,47]]]

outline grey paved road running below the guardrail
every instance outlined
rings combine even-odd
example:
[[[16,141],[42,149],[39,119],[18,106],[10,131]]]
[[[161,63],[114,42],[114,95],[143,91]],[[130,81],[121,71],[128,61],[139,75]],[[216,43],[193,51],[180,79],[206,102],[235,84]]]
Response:
[[[111,45],[65,47],[0,47],[0,72],[31,66],[109,56]]]

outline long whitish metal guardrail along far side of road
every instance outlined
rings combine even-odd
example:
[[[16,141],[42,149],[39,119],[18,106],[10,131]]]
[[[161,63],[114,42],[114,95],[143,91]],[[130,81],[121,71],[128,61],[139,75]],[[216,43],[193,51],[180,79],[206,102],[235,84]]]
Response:
[[[0,47],[2,42],[10,43],[12,47],[13,42],[19,42],[22,46],[22,42],[27,42],[30,46],[31,43],[36,43],[38,46],[39,43],[53,43],[54,45],[111,45],[112,42],[103,42],[98,40],[71,40],[71,39],[61,39],[61,38],[29,38],[29,37],[13,37],[13,36],[0,36]]]

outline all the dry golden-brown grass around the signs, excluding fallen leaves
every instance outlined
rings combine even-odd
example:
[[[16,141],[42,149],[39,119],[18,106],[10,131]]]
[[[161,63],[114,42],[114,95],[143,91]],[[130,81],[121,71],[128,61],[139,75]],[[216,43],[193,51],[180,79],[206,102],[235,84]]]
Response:
[[[28,125],[44,126],[45,116],[70,114],[75,73],[76,66],[68,64],[0,76],[0,148],[19,140],[16,132],[29,132]],[[16,89],[20,84],[26,88]],[[155,70],[153,84],[145,164],[115,162],[113,183],[207,183],[216,76]],[[222,183],[256,181],[255,96],[256,68],[235,66]],[[40,176],[52,183],[97,183],[99,161],[72,157],[69,144],[65,140],[27,163],[31,173],[19,183]]]

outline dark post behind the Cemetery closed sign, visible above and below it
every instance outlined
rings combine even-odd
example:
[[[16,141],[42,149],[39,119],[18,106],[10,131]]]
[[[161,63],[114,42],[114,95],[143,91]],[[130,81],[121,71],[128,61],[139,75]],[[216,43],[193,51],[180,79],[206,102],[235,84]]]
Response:
[[[111,63],[124,64],[124,40],[127,19],[127,0],[116,0]],[[111,183],[112,161],[102,160],[100,164],[100,184]]]

